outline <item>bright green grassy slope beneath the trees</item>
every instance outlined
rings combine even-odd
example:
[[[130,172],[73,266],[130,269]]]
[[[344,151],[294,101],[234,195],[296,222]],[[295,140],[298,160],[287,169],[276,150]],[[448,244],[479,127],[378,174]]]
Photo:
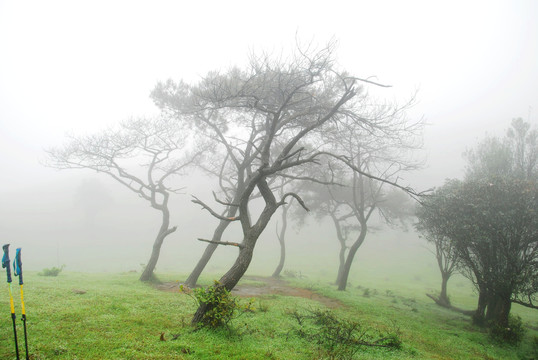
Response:
[[[178,276],[163,278],[173,280]],[[206,276],[205,280],[210,278]],[[401,350],[368,348],[357,355],[361,359],[518,359],[529,353],[531,336],[537,334],[529,331],[520,348],[497,346],[469,319],[440,309],[421,296],[424,290],[419,285],[416,289],[379,286],[375,291],[371,286],[369,296],[364,296],[368,284],[338,292],[328,284],[314,284],[309,279],[296,279],[293,283],[340,299],[345,306],[335,311],[343,317],[381,330],[399,328]],[[73,289],[87,292],[76,294]],[[456,288],[453,293],[460,302],[472,304],[467,290]],[[5,286],[2,293],[0,358],[14,359]],[[20,313],[17,287],[14,296]],[[193,300],[184,294],[162,292],[141,284],[136,274],[68,272],[46,278],[28,273],[25,300],[32,359],[328,358],[315,344],[297,335],[297,322],[287,315],[289,310],[323,306],[309,299],[266,295],[256,302],[257,311],[235,321],[232,333],[193,332],[185,326],[195,310]],[[527,323],[537,325],[535,313],[521,308],[514,311]],[[168,341],[159,340],[161,332]],[[171,334],[179,334],[178,339],[170,341]],[[20,325],[19,337],[23,351]]]

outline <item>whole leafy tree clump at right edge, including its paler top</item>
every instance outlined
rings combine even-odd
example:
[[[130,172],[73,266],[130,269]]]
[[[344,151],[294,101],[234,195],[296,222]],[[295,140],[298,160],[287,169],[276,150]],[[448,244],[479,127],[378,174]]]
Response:
[[[465,153],[465,181],[448,181],[418,211],[417,228],[444,256],[442,273],[457,263],[475,284],[479,323],[506,328],[511,303],[536,308],[537,139],[514,119],[504,138]]]

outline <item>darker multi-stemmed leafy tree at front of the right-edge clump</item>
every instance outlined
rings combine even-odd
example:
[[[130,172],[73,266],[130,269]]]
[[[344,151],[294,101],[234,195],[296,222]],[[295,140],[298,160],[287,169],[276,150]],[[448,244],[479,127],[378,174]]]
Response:
[[[490,178],[462,183],[451,199],[459,207],[453,237],[464,273],[479,290],[478,321],[508,326],[511,303],[533,305],[538,288],[538,186]]]

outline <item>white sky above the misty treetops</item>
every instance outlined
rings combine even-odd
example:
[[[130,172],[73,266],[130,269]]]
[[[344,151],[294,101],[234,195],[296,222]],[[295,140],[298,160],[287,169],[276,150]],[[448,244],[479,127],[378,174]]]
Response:
[[[169,77],[196,80],[251,50],[338,40],[342,67],[375,75],[425,133],[418,190],[461,175],[461,153],[514,117],[537,125],[538,1],[0,0],[0,193],[61,179],[39,164],[66,132],[151,113]],[[408,184],[405,184],[408,185]]]

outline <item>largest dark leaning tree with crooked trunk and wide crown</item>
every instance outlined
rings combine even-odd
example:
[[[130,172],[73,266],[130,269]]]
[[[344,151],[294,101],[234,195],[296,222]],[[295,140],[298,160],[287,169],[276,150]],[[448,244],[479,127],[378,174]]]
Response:
[[[319,166],[319,174],[327,171],[327,159],[341,154],[323,143],[324,131],[338,131],[338,123],[344,120],[361,124],[369,130],[368,136],[399,129],[392,125],[392,117],[368,116],[369,106],[375,107],[364,88],[368,83],[372,84],[339,71],[328,46],[298,51],[287,61],[253,57],[245,69],[212,72],[191,85],[173,81],[157,85],[156,104],[178,121],[190,120],[215,142],[215,148],[223,149],[236,171],[235,181],[241,184],[233,199],[216,199],[217,205],[237,210],[233,217],[221,215],[199,198],[194,200],[219,220],[239,222],[242,230],[240,241],[215,242],[239,250],[235,263],[215,286],[233,289],[278,208],[293,198],[307,209],[298,193],[279,196],[270,182],[281,176],[293,178],[306,165]],[[261,209],[251,204],[255,195],[260,196]],[[201,304],[193,322],[201,321],[212,306]]]

